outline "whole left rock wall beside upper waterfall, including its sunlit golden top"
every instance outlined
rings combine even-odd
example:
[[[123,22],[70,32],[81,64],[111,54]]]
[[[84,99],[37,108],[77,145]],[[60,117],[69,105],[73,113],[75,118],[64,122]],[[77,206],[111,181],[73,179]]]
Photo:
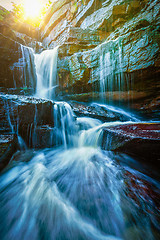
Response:
[[[36,29],[0,6],[0,87],[35,89],[33,49],[40,49],[36,35]]]

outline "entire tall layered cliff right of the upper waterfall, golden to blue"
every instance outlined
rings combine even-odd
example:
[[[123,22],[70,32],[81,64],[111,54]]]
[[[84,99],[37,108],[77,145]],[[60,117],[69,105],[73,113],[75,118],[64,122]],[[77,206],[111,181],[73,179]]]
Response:
[[[100,91],[108,100],[149,103],[158,97],[159,11],[158,0],[55,1],[42,40],[50,48],[61,45],[63,94]]]

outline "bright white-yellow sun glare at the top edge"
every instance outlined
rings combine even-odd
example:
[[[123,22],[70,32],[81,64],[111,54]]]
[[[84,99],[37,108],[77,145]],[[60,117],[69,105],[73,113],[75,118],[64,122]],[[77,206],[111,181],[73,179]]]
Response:
[[[42,1],[40,0],[25,0],[24,14],[25,18],[35,19],[40,16],[42,10]]]

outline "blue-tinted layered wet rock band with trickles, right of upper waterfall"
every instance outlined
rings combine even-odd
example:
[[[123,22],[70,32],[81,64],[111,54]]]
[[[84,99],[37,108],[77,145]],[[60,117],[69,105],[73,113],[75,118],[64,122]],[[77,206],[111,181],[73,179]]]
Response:
[[[58,61],[60,74],[63,69],[63,81],[60,81],[60,85],[62,88],[67,86],[70,91],[70,88],[79,83],[85,86],[87,92],[90,85],[94,91],[93,86],[96,82],[100,88],[105,82],[103,91],[106,92],[125,92],[132,89],[146,91],[149,94],[148,88],[154,90],[155,84],[152,82],[159,83],[160,77],[157,65],[158,36],[156,29],[151,32],[147,27],[145,30],[135,31],[134,34],[133,32],[124,34],[114,41],[106,41],[93,50],[77,53],[75,49],[76,53],[72,56]],[[76,93],[78,89],[74,88]]]

